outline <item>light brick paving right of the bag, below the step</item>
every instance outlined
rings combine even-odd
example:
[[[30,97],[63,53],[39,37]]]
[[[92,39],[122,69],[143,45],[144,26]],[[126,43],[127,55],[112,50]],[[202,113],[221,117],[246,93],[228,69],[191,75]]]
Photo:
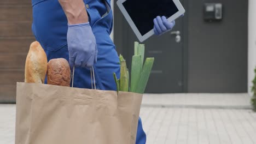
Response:
[[[256,113],[251,110],[142,107],[147,144],[253,144]]]

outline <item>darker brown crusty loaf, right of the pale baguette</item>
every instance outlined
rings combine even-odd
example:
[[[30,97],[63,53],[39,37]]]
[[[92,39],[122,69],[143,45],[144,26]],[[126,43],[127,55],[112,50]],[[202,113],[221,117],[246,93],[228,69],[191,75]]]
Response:
[[[51,59],[48,62],[47,84],[70,86],[70,67],[64,58]]]

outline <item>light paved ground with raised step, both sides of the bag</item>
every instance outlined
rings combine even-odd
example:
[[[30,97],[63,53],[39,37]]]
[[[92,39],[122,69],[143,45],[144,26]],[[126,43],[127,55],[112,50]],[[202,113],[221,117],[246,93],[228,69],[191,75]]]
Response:
[[[208,95],[208,96],[207,96]],[[256,144],[247,94],[145,94],[147,143]],[[15,105],[0,105],[0,144],[14,144]]]

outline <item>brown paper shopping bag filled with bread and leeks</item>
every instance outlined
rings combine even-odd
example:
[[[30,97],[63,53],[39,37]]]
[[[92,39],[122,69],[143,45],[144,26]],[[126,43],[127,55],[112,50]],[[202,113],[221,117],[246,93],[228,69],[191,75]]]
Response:
[[[142,94],[17,83],[16,144],[135,143]]]

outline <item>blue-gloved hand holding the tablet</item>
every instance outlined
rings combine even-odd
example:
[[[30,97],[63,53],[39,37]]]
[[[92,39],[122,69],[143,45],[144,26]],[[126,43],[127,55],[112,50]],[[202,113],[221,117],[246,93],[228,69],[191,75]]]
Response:
[[[183,15],[181,15],[181,17],[183,17]],[[167,31],[170,31],[172,30],[172,28],[175,26],[175,21],[168,21],[166,19],[165,16],[157,16],[155,19],[154,19],[154,33],[155,35],[161,35]]]

